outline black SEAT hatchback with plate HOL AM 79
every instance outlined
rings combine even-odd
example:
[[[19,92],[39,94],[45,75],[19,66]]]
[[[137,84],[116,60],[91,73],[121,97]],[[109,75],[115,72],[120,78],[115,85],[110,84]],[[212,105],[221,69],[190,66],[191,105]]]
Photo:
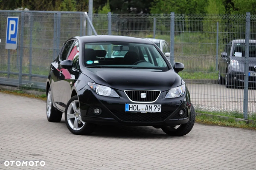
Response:
[[[119,55],[113,55],[119,53]],[[116,57],[117,56],[117,57]],[[51,63],[47,119],[88,135],[96,125],[153,126],[183,136],[195,123],[185,82],[157,46],[142,38],[73,37]]]

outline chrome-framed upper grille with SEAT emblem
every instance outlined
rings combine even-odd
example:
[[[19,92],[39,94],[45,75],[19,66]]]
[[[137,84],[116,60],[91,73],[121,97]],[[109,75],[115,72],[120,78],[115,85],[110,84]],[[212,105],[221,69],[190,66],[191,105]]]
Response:
[[[149,90],[129,90],[125,91],[128,98],[133,102],[154,102],[160,95],[160,91]],[[141,94],[146,94],[145,98],[141,97]]]

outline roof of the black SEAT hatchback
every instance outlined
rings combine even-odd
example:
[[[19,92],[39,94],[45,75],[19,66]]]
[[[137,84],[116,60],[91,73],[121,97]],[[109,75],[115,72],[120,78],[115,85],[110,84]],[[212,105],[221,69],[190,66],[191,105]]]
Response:
[[[90,35],[83,37],[76,37],[80,39],[82,42],[135,42],[135,43],[144,43],[144,44],[154,44],[153,42],[143,39],[143,38],[135,38],[135,37],[126,37],[126,36],[118,36],[118,35]]]

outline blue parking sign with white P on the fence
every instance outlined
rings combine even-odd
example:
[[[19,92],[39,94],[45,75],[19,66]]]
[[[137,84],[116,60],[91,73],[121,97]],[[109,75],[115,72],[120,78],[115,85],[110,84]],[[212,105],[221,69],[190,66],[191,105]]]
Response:
[[[7,17],[6,49],[17,49],[19,17]]]

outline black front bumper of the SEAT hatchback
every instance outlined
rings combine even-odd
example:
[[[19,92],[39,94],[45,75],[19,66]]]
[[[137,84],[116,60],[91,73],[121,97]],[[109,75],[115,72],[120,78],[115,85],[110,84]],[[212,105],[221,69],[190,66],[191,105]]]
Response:
[[[123,91],[117,91],[119,98],[95,94],[87,85],[83,91],[83,94],[79,94],[79,102],[81,119],[84,122],[103,125],[167,126],[189,121],[191,103],[187,93],[179,98],[165,99],[166,92],[162,92],[156,102],[149,103],[161,104],[161,113],[128,113],[125,112],[125,104],[136,103],[131,102]],[[101,114],[94,114],[94,108],[100,108]],[[183,116],[179,115],[181,109],[185,111]]]

